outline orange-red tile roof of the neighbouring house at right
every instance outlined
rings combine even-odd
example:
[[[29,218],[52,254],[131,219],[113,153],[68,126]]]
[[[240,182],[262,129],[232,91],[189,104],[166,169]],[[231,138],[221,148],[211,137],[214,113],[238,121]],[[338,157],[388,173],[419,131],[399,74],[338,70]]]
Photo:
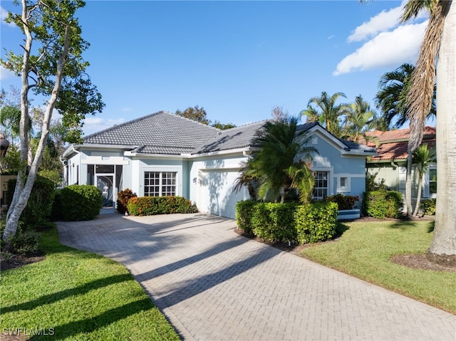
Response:
[[[371,157],[371,162],[407,159],[410,129],[390,130],[388,132],[373,131],[366,135],[378,140],[369,141],[368,145],[378,145],[378,156]],[[435,127],[425,127],[422,145],[435,147]]]

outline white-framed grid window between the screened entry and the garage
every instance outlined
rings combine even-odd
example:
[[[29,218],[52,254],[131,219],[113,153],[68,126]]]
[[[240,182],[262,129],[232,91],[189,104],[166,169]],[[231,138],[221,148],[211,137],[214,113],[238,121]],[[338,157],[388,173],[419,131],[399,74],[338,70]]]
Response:
[[[177,172],[144,172],[144,196],[176,195]]]

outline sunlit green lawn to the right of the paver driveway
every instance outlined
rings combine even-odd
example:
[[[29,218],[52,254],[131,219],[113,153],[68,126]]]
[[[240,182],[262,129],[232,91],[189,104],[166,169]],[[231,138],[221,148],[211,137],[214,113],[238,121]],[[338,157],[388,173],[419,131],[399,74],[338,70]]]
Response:
[[[437,308],[456,313],[456,273],[418,270],[392,263],[395,255],[425,253],[432,221],[353,221],[338,241],[302,256]]]

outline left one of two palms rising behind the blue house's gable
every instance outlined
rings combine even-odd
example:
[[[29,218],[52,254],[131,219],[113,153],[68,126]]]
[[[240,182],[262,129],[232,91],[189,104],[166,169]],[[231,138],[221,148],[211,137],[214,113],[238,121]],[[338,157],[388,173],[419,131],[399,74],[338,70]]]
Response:
[[[301,111],[301,116],[306,116],[306,122],[319,122],[331,134],[339,137],[341,132],[341,119],[350,110],[346,104],[336,105],[338,98],[346,98],[344,93],[334,93],[331,96],[323,91],[318,97],[313,97],[307,103],[307,109]]]

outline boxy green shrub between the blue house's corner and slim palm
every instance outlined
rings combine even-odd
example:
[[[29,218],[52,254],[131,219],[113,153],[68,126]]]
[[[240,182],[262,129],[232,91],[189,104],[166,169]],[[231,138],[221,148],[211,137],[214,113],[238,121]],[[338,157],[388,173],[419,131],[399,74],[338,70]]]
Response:
[[[379,219],[400,218],[403,206],[400,192],[375,191],[363,194],[363,214],[365,216]]]

